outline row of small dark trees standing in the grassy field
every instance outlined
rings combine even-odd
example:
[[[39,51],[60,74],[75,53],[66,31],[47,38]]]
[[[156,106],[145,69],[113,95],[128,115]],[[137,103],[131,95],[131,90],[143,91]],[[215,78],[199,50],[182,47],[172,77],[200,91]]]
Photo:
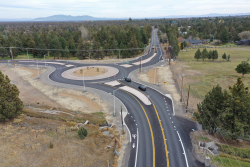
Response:
[[[209,59],[209,60],[212,59],[212,60],[214,61],[215,59],[218,59],[218,57],[219,57],[219,55],[218,55],[218,51],[217,51],[217,50],[210,50],[210,51],[207,51],[206,48],[204,48],[204,49],[202,50],[202,52],[200,51],[200,49],[198,49],[198,50],[195,52],[195,55],[194,55],[194,58],[197,59],[197,61],[198,61],[199,59],[202,59],[203,61],[204,61],[205,59]],[[224,53],[224,54],[222,55],[222,59],[223,59],[223,61],[224,61],[224,60],[230,61],[230,55],[226,55],[226,53]]]

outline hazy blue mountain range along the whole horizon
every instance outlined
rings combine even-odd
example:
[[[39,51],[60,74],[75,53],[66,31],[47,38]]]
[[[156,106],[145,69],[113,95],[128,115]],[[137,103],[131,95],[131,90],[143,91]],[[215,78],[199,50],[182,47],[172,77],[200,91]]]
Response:
[[[161,19],[161,18],[190,18],[190,17],[216,17],[216,16],[244,16],[244,15],[250,15],[250,13],[236,13],[236,14],[219,14],[219,13],[211,13],[206,15],[169,15],[169,16],[163,16],[163,17],[149,17],[147,19]],[[71,15],[54,15],[49,17],[39,17],[35,19],[6,19],[6,18],[0,18],[0,22],[14,22],[14,21],[29,21],[29,22],[55,22],[55,21],[102,21],[102,20],[127,20],[128,18],[106,18],[106,17],[92,17],[88,15],[83,16],[71,16]],[[145,18],[132,18],[132,19],[145,19]]]

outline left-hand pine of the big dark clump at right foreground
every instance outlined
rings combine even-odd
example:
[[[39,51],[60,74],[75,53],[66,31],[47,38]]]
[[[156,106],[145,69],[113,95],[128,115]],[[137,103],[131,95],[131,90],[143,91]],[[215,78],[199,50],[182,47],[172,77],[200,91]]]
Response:
[[[210,133],[216,133],[217,126],[220,127],[222,121],[220,119],[221,114],[225,110],[226,91],[222,91],[222,88],[217,85],[209,91],[204,100],[197,105],[198,113],[194,113],[197,121],[202,124],[203,128]]]

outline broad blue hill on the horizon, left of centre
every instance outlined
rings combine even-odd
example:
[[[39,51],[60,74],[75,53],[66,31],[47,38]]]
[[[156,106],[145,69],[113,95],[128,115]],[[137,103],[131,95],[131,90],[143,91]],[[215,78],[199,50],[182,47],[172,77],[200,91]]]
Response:
[[[114,18],[97,18],[88,15],[71,16],[71,15],[54,15],[49,17],[40,17],[32,21],[97,21],[97,20],[119,20]]]

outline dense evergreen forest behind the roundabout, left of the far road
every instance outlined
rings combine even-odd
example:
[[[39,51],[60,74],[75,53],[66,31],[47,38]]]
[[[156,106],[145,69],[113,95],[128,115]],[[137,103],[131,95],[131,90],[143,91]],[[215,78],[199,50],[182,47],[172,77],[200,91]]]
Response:
[[[123,21],[125,22],[125,21]],[[114,23],[114,22],[112,22]],[[44,49],[63,49],[49,51],[54,58],[66,58],[77,56],[79,59],[89,57],[99,59],[104,56],[118,56],[118,51],[97,51],[102,49],[126,49],[144,48],[149,43],[152,26],[139,26],[132,23],[123,25],[102,25],[86,23],[86,25],[74,24],[76,27],[69,26],[69,23],[16,23],[16,27],[3,29],[0,33],[0,47],[23,47],[38,48],[27,50],[32,53],[33,58],[41,57],[48,53]],[[27,28],[28,27],[28,28]],[[1,30],[0,29],[0,30]],[[7,32],[7,33],[6,33]],[[74,50],[91,50],[90,52]],[[121,57],[132,57],[143,50],[121,51]],[[12,49],[13,56],[20,53],[25,54],[26,50]],[[0,48],[2,58],[10,56],[9,49]]]

